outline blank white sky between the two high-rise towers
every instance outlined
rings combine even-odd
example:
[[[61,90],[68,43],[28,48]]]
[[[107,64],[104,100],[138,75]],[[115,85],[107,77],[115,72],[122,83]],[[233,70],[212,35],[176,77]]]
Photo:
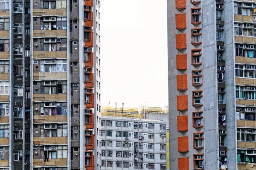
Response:
[[[168,105],[167,1],[101,3],[101,105]]]

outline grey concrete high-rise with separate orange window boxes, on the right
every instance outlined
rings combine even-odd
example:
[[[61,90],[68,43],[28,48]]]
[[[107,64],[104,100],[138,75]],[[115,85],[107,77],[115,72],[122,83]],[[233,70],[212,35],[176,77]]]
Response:
[[[170,165],[256,165],[256,0],[168,0]]]

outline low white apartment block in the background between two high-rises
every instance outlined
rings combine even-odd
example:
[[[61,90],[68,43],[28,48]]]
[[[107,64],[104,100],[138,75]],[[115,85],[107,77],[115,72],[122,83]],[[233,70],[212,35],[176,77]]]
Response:
[[[166,122],[102,116],[102,170],[166,170]]]

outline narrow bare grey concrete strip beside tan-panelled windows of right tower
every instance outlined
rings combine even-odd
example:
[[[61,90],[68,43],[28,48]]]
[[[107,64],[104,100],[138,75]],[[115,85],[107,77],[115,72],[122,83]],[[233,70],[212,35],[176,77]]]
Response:
[[[235,40],[233,0],[224,0],[224,38],[225,38],[225,74],[226,74],[226,115],[227,115],[227,166],[237,170],[236,151],[236,93],[235,93]]]

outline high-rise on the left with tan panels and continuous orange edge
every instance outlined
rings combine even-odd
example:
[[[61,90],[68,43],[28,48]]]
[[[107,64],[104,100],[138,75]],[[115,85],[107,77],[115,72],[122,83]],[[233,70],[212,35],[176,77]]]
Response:
[[[0,170],[101,168],[100,5],[0,2]]]

